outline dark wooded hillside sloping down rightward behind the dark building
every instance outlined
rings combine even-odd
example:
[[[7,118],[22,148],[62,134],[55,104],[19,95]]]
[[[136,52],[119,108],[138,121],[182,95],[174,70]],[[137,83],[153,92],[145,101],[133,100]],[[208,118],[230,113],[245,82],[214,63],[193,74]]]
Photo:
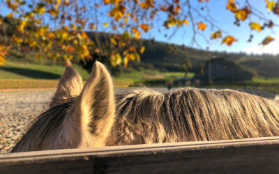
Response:
[[[163,42],[144,40],[146,51],[141,61],[167,71],[183,71],[186,58],[193,65],[191,72],[199,71],[199,66],[210,58],[222,57],[241,65],[253,74],[263,77],[279,77],[279,55],[248,55],[243,53],[208,52],[178,45],[169,46]]]

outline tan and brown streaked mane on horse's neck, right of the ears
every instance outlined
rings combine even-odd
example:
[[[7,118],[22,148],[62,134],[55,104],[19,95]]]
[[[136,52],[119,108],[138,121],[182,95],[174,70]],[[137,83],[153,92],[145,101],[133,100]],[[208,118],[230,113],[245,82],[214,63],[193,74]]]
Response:
[[[107,145],[217,141],[279,135],[279,104],[235,90],[149,89],[116,95]]]

